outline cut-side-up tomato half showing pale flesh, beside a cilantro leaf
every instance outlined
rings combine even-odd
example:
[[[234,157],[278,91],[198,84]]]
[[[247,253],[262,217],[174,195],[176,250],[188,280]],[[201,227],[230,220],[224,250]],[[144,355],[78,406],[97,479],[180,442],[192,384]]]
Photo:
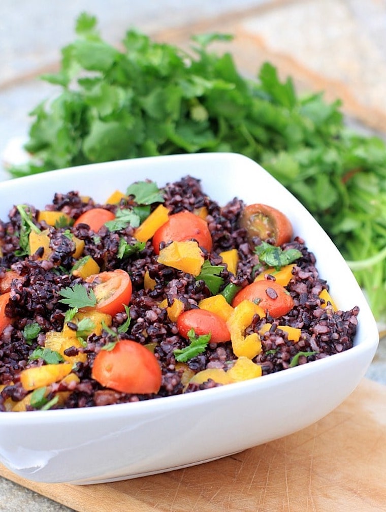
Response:
[[[87,283],[95,283],[94,293],[97,304],[94,309],[111,316],[124,311],[124,305],[132,298],[130,275],[121,269],[90,275]],[[84,308],[88,309],[88,308]]]

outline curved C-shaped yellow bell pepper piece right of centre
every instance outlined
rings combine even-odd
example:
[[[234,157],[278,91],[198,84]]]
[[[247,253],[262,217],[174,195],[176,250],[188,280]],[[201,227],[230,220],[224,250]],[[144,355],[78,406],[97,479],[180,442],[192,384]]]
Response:
[[[238,304],[227,321],[230,332],[233,353],[237,357],[253,359],[262,351],[262,344],[258,333],[245,336],[245,330],[252,323],[253,316],[265,316],[263,308],[251,301],[245,300]]]

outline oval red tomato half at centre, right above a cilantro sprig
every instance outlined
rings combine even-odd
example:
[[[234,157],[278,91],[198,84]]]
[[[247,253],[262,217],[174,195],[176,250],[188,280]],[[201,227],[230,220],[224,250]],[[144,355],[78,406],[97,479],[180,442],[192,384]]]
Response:
[[[189,309],[177,318],[178,332],[188,338],[190,329],[197,336],[211,334],[210,343],[224,343],[230,340],[229,329],[221,316],[206,309]]]

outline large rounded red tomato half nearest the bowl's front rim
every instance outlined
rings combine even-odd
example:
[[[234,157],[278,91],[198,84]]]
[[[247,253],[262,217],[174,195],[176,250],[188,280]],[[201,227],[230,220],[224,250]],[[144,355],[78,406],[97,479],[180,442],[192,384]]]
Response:
[[[155,355],[131,339],[122,339],[113,350],[98,352],[92,377],[102,386],[121,393],[157,393],[162,382]]]

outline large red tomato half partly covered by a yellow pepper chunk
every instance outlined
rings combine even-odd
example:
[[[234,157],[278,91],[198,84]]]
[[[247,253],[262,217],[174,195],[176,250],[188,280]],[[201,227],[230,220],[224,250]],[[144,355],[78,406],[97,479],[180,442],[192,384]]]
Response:
[[[208,223],[192,214],[191,211],[180,211],[172,214],[153,236],[153,246],[156,254],[159,254],[161,242],[186,242],[197,240],[200,247],[208,252],[212,250],[212,237],[208,229]]]

